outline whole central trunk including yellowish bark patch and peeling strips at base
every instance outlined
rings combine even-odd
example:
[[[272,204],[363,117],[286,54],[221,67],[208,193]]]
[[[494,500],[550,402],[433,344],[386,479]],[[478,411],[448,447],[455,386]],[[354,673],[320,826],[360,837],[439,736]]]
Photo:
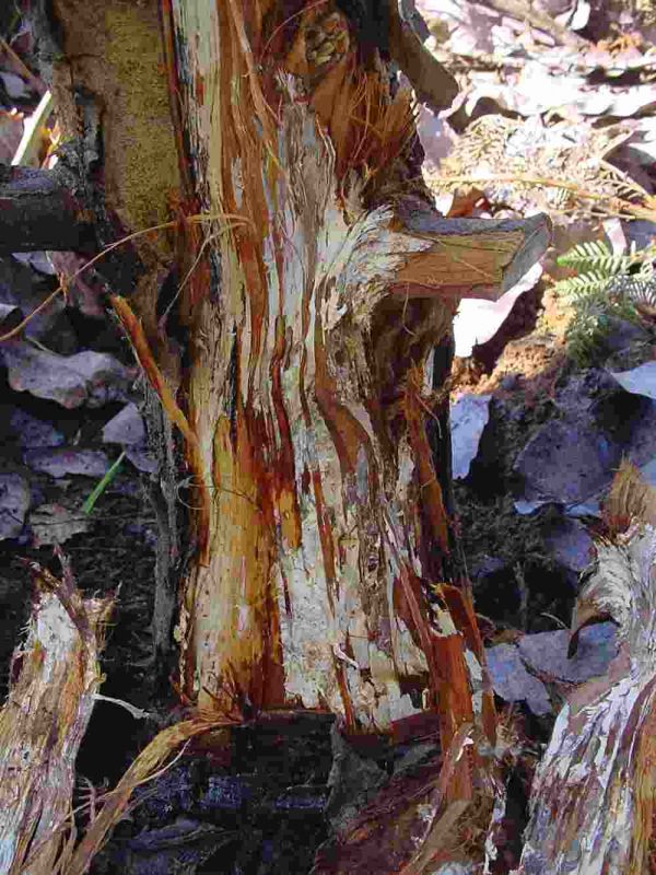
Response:
[[[134,762],[67,871],[84,871],[136,783],[185,738],[297,709],[360,736],[410,738],[429,723],[442,749],[430,816],[412,800],[421,841],[399,865],[460,860],[468,817],[484,831],[500,795],[481,754],[496,719],[470,594],[450,570],[430,361],[452,348],[459,296],[509,288],[543,253],[547,220],[436,218],[413,96],[375,50],[362,62],[332,0],[162,2],[164,48],[154,0],[52,8],[54,93],[96,214],[120,233],[204,214],[140,236],[138,288],[129,300],[113,289],[184,441],[176,680],[192,718]],[[445,103],[452,84],[435,85]],[[169,307],[157,310],[174,255],[175,343]],[[171,599],[157,604],[165,628]]]

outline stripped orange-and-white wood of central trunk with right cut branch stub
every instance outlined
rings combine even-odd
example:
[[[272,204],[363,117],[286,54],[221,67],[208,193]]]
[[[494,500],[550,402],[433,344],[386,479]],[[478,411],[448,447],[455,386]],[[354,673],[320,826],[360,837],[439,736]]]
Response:
[[[284,66],[276,15],[265,27],[234,2],[181,0],[174,14],[197,191],[244,220],[208,230],[221,284],[183,305],[203,336],[189,421],[213,499],[209,561],[184,592],[184,690],[206,709],[295,702],[390,731],[423,690],[437,707],[432,639],[456,632],[426,602],[448,521],[425,362],[458,294],[501,294],[547,223],[452,225],[395,189],[406,98],[348,45],[315,69],[309,28],[340,26],[329,5],[304,11]]]

